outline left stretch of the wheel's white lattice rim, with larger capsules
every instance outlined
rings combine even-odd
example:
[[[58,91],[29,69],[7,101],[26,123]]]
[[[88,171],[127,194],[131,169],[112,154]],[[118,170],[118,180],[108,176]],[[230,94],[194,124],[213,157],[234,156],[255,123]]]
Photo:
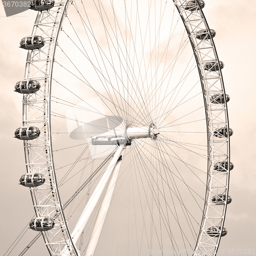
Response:
[[[36,94],[24,95],[23,125],[34,125],[41,131],[38,139],[25,141],[24,148],[27,172],[37,172],[48,177],[44,185],[30,188],[36,216],[54,218],[54,228],[42,232],[48,251],[50,255],[59,255],[66,247],[72,251],[71,255],[77,256],[58,193],[50,136],[51,74],[57,36],[68,4],[69,1],[56,3],[52,10],[37,14],[32,34],[43,36],[46,45],[40,50],[28,52],[25,79],[43,81],[44,86]]]

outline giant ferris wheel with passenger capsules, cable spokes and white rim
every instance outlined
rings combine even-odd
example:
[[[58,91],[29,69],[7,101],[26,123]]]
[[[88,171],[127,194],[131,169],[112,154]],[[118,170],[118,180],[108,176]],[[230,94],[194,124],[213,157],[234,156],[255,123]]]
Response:
[[[216,255],[233,131],[204,7],[32,1],[15,137],[50,255]]]

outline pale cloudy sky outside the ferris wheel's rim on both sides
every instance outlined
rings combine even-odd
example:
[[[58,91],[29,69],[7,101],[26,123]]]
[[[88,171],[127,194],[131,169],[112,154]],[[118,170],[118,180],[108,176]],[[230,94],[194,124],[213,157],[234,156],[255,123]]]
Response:
[[[214,41],[219,59],[225,64],[222,74],[226,93],[231,98],[228,102],[228,114],[230,127],[234,132],[230,140],[231,162],[234,164],[229,188],[232,203],[227,207],[224,224],[228,234],[221,239],[219,247],[219,253],[225,255],[228,254],[228,249],[256,249],[254,232],[256,228],[254,167],[256,16],[252,8],[254,1],[205,0],[206,7],[203,9],[209,27],[217,32]],[[6,17],[3,5],[0,5],[2,35],[0,39],[2,83],[0,237],[4,253],[24,228],[19,224],[20,220],[25,219],[29,222],[34,214],[27,190],[18,186],[18,179],[26,170],[23,143],[13,138],[15,129],[22,123],[22,95],[13,90],[15,82],[21,80],[25,72],[27,53],[18,48],[19,40],[32,30],[35,15],[34,11],[28,10]],[[35,233],[32,233],[31,238],[34,235]],[[24,244],[24,247],[26,245]]]

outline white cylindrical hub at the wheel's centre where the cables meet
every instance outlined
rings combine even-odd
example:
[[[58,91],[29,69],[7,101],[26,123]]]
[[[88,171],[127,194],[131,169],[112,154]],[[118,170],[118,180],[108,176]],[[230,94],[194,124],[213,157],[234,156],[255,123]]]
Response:
[[[156,139],[159,131],[156,124],[151,124],[150,126],[142,127],[128,127],[126,129],[127,139],[142,139],[142,138],[152,138]]]

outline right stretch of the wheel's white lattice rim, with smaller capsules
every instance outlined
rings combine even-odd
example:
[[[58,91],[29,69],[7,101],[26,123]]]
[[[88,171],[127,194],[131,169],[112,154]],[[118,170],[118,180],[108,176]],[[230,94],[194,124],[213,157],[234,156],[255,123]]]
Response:
[[[207,134],[208,134],[208,177],[207,190],[205,197],[205,207],[201,230],[198,237],[198,243],[195,248],[195,255],[215,255],[220,243],[221,232],[224,224],[226,204],[216,205],[211,202],[211,198],[218,194],[228,194],[229,169],[226,172],[218,172],[214,169],[215,164],[221,161],[228,161],[229,166],[229,134],[228,137],[221,138],[214,136],[214,131],[221,127],[227,127],[229,131],[226,99],[225,104],[215,104],[211,102],[211,96],[219,93],[225,95],[220,63],[212,40],[210,29],[199,8],[197,11],[186,10],[188,1],[174,1],[182,17],[185,28],[188,32],[191,45],[197,60],[198,70],[201,78],[201,85],[204,94]],[[200,40],[196,38],[196,33],[206,29],[209,32],[210,39]],[[215,62],[219,70],[205,70],[207,62]],[[212,238],[208,235],[207,229],[210,227],[221,227],[218,238]]]

